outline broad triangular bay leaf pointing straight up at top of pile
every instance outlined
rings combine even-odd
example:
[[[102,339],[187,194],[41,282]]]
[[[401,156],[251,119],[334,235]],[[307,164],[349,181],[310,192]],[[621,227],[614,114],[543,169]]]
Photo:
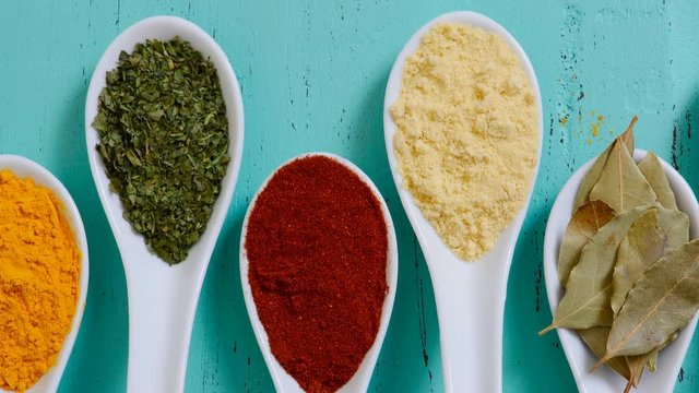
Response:
[[[600,181],[590,191],[590,200],[603,201],[616,213],[657,203],[655,192],[620,138],[612,147],[609,158],[600,175]]]

